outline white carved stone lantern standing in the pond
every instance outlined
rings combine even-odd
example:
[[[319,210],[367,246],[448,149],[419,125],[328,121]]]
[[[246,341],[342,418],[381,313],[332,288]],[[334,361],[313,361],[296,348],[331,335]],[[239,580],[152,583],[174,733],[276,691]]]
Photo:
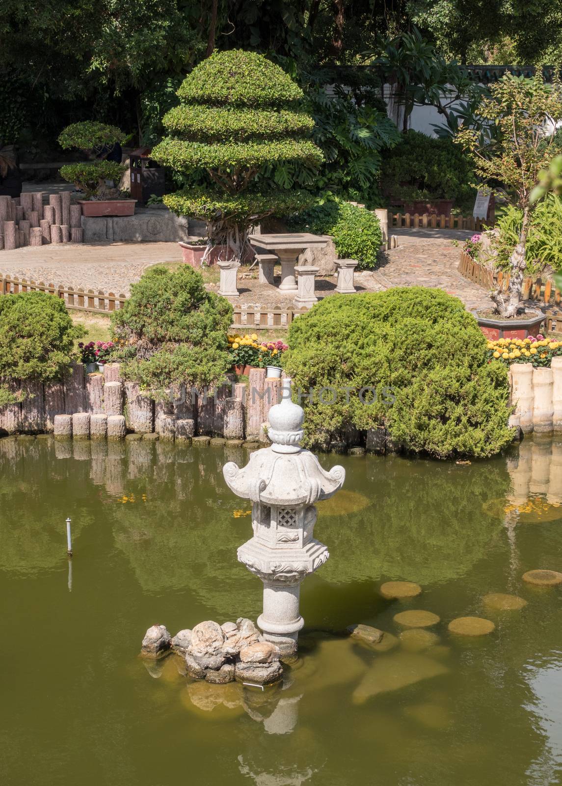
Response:
[[[269,447],[254,451],[248,464],[224,465],[228,487],[252,501],[254,537],[238,549],[238,559],[264,584],[264,611],[257,619],[267,641],[284,655],[296,652],[301,582],[328,559],[327,546],[313,537],[315,502],[341,489],[343,467],[325,472],[300,446],[305,413],[290,400],[290,380],[283,397],[269,410]]]

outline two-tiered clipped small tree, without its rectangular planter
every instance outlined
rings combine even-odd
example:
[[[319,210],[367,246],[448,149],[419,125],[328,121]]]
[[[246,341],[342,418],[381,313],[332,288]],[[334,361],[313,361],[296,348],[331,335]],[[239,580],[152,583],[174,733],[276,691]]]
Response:
[[[68,163],[60,167],[60,176],[74,183],[86,194],[86,199],[107,199],[111,196],[106,180],[119,183],[125,169],[117,161],[105,160],[115,145],[121,145],[126,134],[116,126],[105,123],[71,123],[60,132],[59,145],[67,150],[78,148],[93,159],[93,163]]]

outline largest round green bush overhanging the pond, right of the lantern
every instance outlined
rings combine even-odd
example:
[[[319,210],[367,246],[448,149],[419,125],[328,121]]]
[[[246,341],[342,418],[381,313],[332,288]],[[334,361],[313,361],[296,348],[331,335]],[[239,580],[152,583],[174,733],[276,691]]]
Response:
[[[316,391],[301,402],[309,444],[384,425],[407,449],[446,458],[491,456],[512,439],[506,369],[487,362],[476,320],[445,292],[324,298],[293,322],[288,343],[283,367]]]

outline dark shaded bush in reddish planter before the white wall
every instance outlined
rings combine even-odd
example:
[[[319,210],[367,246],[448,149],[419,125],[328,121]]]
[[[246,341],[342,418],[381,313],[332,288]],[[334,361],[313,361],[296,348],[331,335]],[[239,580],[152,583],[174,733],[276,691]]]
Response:
[[[391,199],[453,199],[476,196],[476,178],[469,156],[450,138],[435,139],[409,130],[385,155],[381,189]]]

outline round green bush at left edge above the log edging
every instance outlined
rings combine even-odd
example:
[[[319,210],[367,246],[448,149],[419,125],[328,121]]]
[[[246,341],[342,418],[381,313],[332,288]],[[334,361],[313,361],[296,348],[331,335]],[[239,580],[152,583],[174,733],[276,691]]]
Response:
[[[55,380],[70,369],[75,339],[64,301],[43,292],[0,298],[0,380]],[[0,385],[0,403],[16,400]]]

